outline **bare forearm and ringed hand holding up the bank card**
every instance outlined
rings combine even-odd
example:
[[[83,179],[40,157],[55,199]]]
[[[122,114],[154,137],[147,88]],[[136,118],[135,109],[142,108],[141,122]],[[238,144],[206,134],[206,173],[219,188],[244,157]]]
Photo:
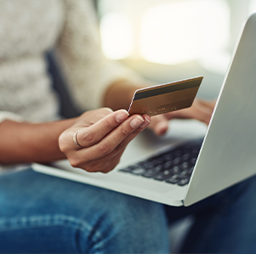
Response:
[[[48,123],[3,121],[0,124],[0,163],[50,162],[68,158],[73,167],[109,172],[127,144],[150,123],[149,116],[126,110],[91,110],[77,118]],[[73,141],[77,132],[78,148]]]

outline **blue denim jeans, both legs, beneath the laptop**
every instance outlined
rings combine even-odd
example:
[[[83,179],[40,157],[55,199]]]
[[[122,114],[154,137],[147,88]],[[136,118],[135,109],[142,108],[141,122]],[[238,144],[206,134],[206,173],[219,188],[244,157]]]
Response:
[[[192,214],[183,252],[255,253],[255,181],[173,207],[31,170],[1,175],[0,252],[168,253],[168,225]]]

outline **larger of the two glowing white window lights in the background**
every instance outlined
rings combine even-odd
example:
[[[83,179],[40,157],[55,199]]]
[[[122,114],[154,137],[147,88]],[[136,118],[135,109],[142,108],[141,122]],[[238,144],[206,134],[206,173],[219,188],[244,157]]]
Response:
[[[142,19],[140,53],[175,65],[223,50],[230,39],[230,8],[224,0],[185,0],[149,8]]]

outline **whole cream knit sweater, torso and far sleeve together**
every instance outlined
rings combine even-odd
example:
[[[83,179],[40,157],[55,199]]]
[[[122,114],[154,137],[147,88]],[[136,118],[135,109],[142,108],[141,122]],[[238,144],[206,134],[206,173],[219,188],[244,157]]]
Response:
[[[0,0],[0,45],[0,122],[58,118],[44,59],[52,48],[83,110],[100,107],[111,82],[135,78],[101,53],[90,0]]]

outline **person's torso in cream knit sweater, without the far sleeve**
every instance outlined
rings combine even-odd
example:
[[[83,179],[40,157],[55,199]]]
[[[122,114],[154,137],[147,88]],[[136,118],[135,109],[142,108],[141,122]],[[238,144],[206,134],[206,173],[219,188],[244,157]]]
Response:
[[[61,0],[0,1],[0,111],[28,121],[58,117],[44,54],[64,23]]]

